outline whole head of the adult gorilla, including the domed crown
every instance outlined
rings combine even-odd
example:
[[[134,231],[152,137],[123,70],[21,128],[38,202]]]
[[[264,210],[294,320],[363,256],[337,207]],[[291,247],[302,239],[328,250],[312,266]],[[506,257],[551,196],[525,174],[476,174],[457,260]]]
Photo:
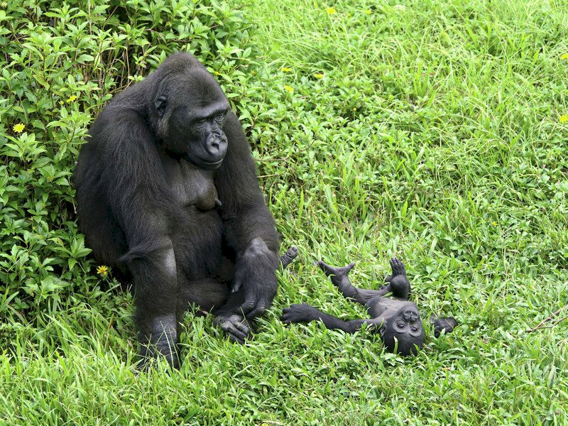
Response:
[[[158,141],[170,155],[204,170],[218,168],[227,149],[223,126],[229,112],[221,87],[185,53],[170,56],[159,72],[153,79],[157,90],[148,102]]]

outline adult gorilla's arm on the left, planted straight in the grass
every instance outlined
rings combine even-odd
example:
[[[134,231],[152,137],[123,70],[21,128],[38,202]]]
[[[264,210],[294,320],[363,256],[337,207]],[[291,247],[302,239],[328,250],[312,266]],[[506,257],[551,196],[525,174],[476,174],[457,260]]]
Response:
[[[126,239],[119,263],[132,274],[142,354],[155,356],[158,351],[177,367],[177,268],[168,229],[174,207],[164,196],[169,190],[155,141],[141,117],[129,110],[107,109],[91,135],[89,148],[99,150],[102,159],[97,160],[102,169],[99,187],[107,192],[110,213]]]

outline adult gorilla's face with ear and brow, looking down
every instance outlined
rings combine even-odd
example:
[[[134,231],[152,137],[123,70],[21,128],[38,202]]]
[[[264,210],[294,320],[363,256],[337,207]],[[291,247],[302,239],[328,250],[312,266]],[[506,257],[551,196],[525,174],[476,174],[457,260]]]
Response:
[[[229,112],[219,84],[211,75],[197,73],[177,77],[167,92],[154,101],[160,142],[169,153],[199,168],[219,168],[227,149],[223,126]]]

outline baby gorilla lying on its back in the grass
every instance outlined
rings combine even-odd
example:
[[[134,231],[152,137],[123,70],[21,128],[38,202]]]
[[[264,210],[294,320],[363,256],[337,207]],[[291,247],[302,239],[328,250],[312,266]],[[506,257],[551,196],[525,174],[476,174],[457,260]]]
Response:
[[[344,268],[334,268],[323,261],[316,262],[325,275],[332,279],[332,283],[339,288],[344,297],[355,300],[367,308],[371,315],[369,320],[339,320],[315,307],[302,303],[285,308],[282,321],[285,324],[293,322],[310,322],[320,320],[328,329],[340,329],[353,333],[361,324],[371,324],[378,329],[387,349],[401,355],[416,354],[424,343],[424,328],[420,319],[420,312],[415,303],[408,300],[410,295],[410,282],[406,277],[404,264],[398,258],[391,259],[393,275],[385,278],[386,285],[379,290],[364,290],[355,288],[349,281],[349,271],[354,267],[351,263]],[[384,297],[393,293],[393,298]],[[451,320],[455,320],[451,318]],[[454,324],[455,327],[455,324]],[[441,327],[441,329],[446,329]],[[452,327],[453,329],[453,327]],[[452,329],[446,329],[447,332]]]

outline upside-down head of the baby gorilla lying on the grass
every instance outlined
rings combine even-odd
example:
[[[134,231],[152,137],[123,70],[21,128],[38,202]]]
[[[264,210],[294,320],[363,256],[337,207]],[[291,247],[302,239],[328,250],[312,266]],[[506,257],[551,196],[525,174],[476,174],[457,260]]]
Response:
[[[387,320],[381,334],[384,344],[391,352],[397,346],[397,352],[401,355],[416,354],[417,348],[420,349],[424,343],[420,312],[415,307],[401,308],[396,315]]]

